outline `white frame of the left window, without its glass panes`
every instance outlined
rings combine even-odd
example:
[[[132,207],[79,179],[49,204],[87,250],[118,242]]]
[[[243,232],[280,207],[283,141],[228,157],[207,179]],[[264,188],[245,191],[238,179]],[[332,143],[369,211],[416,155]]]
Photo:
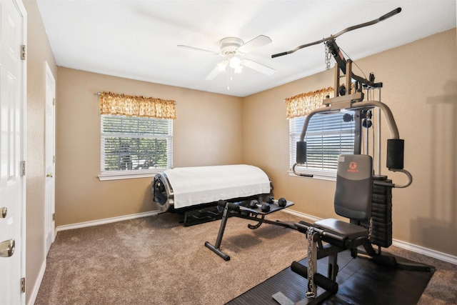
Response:
[[[147,177],[154,177],[157,173],[164,171],[166,169],[171,169],[173,167],[173,119],[156,119],[156,118],[144,118],[139,116],[125,116],[129,118],[136,118],[139,120],[165,120],[168,123],[167,129],[168,134],[160,134],[157,136],[149,134],[148,136],[144,136],[142,134],[122,134],[116,132],[104,132],[104,118],[107,116],[117,116],[111,114],[102,114],[100,118],[100,174],[98,176],[100,181],[106,180],[119,180],[119,179],[136,179],[136,178],[147,178]],[[154,169],[124,169],[124,170],[116,170],[116,171],[106,171],[104,170],[104,138],[105,137],[116,137],[119,136],[121,138],[151,138],[151,139],[166,139],[167,140],[167,167],[160,167]]]

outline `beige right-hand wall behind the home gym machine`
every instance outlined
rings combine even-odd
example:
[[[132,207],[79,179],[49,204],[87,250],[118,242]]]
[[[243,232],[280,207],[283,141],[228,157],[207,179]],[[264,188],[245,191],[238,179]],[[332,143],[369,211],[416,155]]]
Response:
[[[376,81],[383,82],[382,101],[390,107],[400,137],[405,139],[405,169],[413,174],[411,186],[393,189],[393,238],[456,256],[456,29],[356,63],[367,75],[373,72]],[[333,71],[243,99],[243,161],[270,175],[275,196],[294,201],[296,211],[321,218],[335,216],[335,184],[288,176],[288,121],[283,99],[327,86],[333,86]],[[382,173],[394,183],[404,184],[403,174],[384,168],[389,133],[386,121],[381,122]]]

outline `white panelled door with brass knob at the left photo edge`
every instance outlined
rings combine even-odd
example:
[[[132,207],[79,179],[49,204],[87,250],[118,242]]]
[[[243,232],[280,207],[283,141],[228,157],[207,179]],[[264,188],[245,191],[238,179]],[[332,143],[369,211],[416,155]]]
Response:
[[[21,60],[26,19],[20,0],[0,1],[0,304],[25,304],[24,268],[25,61]]]

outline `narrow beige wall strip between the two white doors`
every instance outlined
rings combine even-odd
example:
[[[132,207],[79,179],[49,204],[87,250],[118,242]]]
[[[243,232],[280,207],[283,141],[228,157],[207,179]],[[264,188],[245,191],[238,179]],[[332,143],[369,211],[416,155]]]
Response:
[[[46,264],[44,245],[44,114],[46,61],[54,78],[57,66],[36,1],[24,1],[27,11],[27,151],[26,151],[26,302]]]

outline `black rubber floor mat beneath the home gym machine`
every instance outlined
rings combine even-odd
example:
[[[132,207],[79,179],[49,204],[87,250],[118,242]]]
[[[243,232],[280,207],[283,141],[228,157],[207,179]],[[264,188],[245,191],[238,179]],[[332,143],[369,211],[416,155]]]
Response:
[[[306,266],[307,261],[303,259],[300,263]],[[378,266],[371,259],[352,259],[349,251],[338,254],[338,266],[338,293],[321,304],[417,304],[435,270],[433,267],[430,271],[409,271]],[[326,258],[318,260],[318,273],[327,274]],[[227,304],[278,304],[272,297],[278,292],[295,304],[306,299],[307,283],[307,279],[289,267]],[[318,294],[322,292],[323,289],[318,289]]]

